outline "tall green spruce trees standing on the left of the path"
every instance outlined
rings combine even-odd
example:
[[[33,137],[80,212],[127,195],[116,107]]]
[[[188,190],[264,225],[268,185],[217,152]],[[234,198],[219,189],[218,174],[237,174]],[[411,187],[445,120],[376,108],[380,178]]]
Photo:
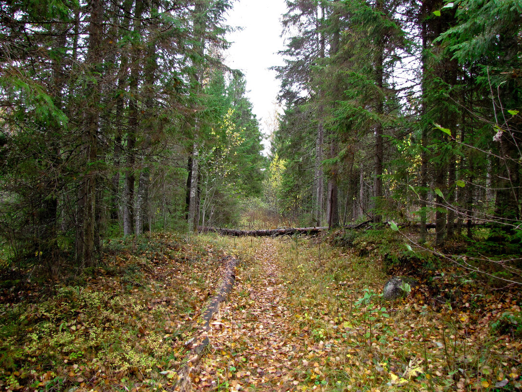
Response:
[[[55,275],[67,257],[96,264],[112,236],[183,226],[194,145],[206,159],[199,224],[260,193],[258,123],[242,76],[220,60],[230,7],[0,4],[0,225],[11,261]],[[205,198],[203,184],[218,178]],[[218,215],[223,225],[239,219]]]

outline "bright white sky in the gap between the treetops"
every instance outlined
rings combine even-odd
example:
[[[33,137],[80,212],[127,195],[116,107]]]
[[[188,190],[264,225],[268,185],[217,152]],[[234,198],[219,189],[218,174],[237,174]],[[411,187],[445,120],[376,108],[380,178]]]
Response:
[[[247,94],[253,111],[265,134],[265,121],[274,115],[275,102],[279,93],[276,72],[268,70],[282,65],[277,54],[284,49],[280,18],[286,13],[285,0],[238,0],[229,11],[228,24],[243,27],[227,36],[232,42],[225,63],[243,72]]]

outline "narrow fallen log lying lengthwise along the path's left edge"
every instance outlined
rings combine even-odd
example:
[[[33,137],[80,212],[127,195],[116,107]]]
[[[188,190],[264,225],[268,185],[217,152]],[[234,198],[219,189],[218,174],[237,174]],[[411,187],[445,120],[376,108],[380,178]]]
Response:
[[[192,371],[197,366],[203,350],[209,343],[208,334],[210,332],[210,321],[216,313],[218,313],[219,305],[227,298],[227,295],[232,291],[232,287],[235,282],[235,269],[238,267],[239,260],[227,256],[224,258],[227,260],[227,266],[223,273],[221,285],[218,293],[210,298],[207,303],[207,307],[201,315],[201,321],[203,326],[200,327],[199,336],[194,340],[191,351],[186,355],[184,364],[176,372],[177,382],[174,387],[175,391],[185,392],[192,390]]]

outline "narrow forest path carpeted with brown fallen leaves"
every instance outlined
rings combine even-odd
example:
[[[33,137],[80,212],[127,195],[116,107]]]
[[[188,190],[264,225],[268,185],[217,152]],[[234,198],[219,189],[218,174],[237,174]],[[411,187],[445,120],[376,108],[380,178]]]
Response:
[[[259,239],[244,262],[229,301],[212,322],[210,350],[193,378],[195,390],[294,390],[292,375],[307,354],[290,336],[292,317],[280,277],[276,240]],[[248,264],[248,265],[245,265]]]

